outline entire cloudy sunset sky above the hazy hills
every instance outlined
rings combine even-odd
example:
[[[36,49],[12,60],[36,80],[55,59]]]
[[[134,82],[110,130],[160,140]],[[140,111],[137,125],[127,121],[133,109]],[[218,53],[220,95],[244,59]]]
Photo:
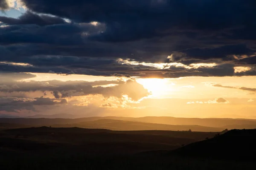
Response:
[[[0,116],[256,119],[255,0],[0,0]]]

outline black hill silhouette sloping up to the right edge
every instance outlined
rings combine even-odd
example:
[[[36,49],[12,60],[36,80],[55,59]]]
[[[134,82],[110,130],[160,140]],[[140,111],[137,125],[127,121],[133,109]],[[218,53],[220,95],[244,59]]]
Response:
[[[215,159],[256,159],[256,129],[229,130],[212,139],[188,144],[173,151],[183,156],[199,156]]]

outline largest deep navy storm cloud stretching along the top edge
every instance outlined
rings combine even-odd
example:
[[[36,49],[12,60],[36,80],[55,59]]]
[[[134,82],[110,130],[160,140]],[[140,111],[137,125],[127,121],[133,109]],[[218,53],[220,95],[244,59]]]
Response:
[[[38,13],[78,22],[99,21],[108,29],[97,40],[126,41],[177,33],[250,26],[254,0],[23,0]],[[74,13],[74,11],[76,11]],[[239,12],[238,12],[239,11]],[[254,23],[255,24],[255,23]],[[205,33],[206,34],[206,33]]]

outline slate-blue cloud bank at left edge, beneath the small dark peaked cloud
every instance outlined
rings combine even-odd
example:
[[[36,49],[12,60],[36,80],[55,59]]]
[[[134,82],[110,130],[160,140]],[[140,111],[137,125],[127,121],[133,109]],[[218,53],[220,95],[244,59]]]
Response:
[[[18,20],[18,19],[17,19]],[[0,44],[45,43],[55,45],[82,45],[87,34],[96,34],[102,26],[84,24],[55,24],[38,26],[34,24],[12,25],[0,27]],[[40,21],[38,21],[40,22]]]

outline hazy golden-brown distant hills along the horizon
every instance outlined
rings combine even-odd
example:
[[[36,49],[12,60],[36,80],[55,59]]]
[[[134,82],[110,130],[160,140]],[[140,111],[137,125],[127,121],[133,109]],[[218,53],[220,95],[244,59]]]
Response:
[[[56,116],[56,115],[55,115]],[[69,116],[69,115],[66,115]],[[53,117],[53,116],[49,116]],[[221,118],[175,118],[175,117],[87,117],[77,119],[64,118],[0,118],[0,123],[20,125],[20,127],[84,127],[105,128],[110,130],[193,130],[222,131],[224,129],[256,128],[255,119],[221,119]],[[12,126],[12,125],[11,125]],[[13,126],[12,126],[13,127]],[[17,127],[17,126],[16,126]]]

